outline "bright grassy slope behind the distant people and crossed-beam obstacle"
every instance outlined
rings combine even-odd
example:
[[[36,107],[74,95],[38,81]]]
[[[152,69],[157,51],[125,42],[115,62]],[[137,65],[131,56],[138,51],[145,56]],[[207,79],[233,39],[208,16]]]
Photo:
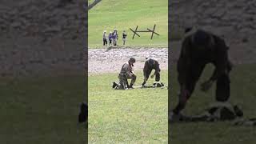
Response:
[[[118,44],[122,45],[122,31],[126,30],[126,46],[168,46],[168,1],[166,0],[102,0],[89,11],[88,18],[89,47],[102,47],[103,30],[113,32],[117,28]],[[129,28],[138,30],[153,30],[160,36],[154,34],[151,40],[150,33],[141,33],[141,37],[132,39],[133,33]]]

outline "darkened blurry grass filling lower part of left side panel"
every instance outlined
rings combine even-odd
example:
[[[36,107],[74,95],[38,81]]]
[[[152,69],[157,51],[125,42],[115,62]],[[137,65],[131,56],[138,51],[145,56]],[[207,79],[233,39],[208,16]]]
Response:
[[[84,76],[1,78],[0,143],[85,143]]]

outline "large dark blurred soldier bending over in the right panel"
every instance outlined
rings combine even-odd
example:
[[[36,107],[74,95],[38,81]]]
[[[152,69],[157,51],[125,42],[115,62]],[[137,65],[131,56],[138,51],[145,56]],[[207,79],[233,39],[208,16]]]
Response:
[[[228,49],[222,38],[204,30],[196,30],[184,38],[177,65],[180,94],[178,105],[170,114],[170,121],[179,118],[208,63],[214,64],[215,70],[212,76],[202,83],[201,90],[209,90],[216,82],[217,102],[226,102],[230,98],[229,73],[232,66],[228,59]]]

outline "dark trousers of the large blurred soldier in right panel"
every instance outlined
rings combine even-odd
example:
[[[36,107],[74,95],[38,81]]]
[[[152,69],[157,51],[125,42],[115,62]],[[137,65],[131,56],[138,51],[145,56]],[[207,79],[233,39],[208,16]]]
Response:
[[[186,106],[187,100],[194,92],[194,87],[200,78],[202,71],[206,65],[198,64],[193,65],[193,68],[190,69],[190,75],[186,75],[186,71],[184,71],[184,67],[178,63],[178,82],[180,85],[180,94],[178,95],[178,106],[174,108],[174,113],[178,114],[181,110],[183,110]],[[183,69],[183,70],[182,70]],[[186,74],[184,74],[186,73]],[[186,75],[186,82],[184,82],[184,75]],[[226,102],[230,98],[230,78],[229,74],[222,74],[218,77],[216,82],[216,92],[215,99],[218,102]]]

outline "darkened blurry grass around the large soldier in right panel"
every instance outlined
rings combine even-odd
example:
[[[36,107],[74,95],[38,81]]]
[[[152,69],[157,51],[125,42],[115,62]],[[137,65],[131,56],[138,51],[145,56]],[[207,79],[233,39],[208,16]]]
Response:
[[[212,66],[207,66],[199,83],[209,78]],[[231,97],[230,102],[242,106],[246,118],[256,118],[256,65],[238,65],[230,74],[231,78]],[[173,80],[171,82],[172,91],[169,97],[171,107],[177,102],[178,82],[177,73],[173,71],[169,75]],[[199,85],[198,85],[199,87]],[[184,114],[198,114],[202,112],[210,102],[214,101],[213,87],[209,94],[202,93],[198,87],[190,98]],[[171,110],[171,108],[170,108]],[[175,123],[170,125],[170,143],[186,144],[253,144],[256,142],[255,127],[232,126],[230,122],[190,122]]]

